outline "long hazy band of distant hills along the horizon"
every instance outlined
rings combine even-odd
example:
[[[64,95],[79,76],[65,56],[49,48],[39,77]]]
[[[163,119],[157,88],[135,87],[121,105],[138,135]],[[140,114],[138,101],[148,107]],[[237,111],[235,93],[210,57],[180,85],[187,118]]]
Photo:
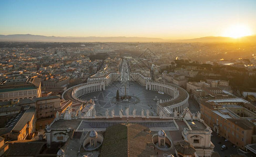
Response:
[[[23,42],[256,42],[256,36],[238,39],[230,37],[202,37],[195,39],[165,40],[144,37],[47,37],[39,35],[0,35],[0,41]]]

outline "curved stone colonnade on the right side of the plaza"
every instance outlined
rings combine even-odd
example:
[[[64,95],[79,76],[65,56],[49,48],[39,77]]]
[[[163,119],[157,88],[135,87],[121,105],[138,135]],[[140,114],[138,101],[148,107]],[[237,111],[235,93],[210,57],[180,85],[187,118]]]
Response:
[[[178,113],[182,113],[183,109],[188,107],[188,92],[176,85],[164,82],[148,81],[146,83],[146,89],[150,91],[159,91],[172,96],[168,100],[160,100],[157,104],[157,114],[160,110],[166,116],[174,116],[173,113],[176,110]]]

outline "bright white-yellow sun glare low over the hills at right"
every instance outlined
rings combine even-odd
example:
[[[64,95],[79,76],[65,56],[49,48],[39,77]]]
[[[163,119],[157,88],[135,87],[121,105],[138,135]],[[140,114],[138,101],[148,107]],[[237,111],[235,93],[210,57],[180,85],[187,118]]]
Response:
[[[224,31],[224,37],[240,38],[244,36],[251,36],[252,32],[248,26],[234,25]]]

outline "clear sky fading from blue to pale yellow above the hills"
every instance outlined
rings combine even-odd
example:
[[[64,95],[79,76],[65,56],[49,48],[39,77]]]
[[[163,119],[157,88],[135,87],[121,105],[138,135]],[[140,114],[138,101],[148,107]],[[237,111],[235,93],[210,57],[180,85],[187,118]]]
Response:
[[[150,37],[222,36],[237,24],[256,33],[256,0],[0,0],[0,35]]]

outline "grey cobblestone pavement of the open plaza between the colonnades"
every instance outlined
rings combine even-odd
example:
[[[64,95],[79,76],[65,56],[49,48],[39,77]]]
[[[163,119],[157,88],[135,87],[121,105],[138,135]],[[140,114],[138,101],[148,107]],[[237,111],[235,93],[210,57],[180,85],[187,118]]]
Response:
[[[136,115],[141,115],[141,109],[144,109],[144,114],[146,115],[146,110],[149,109],[150,115],[156,115],[156,101],[153,100],[155,96],[159,99],[169,99],[171,96],[167,94],[159,94],[156,91],[147,91],[144,86],[139,85],[136,82],[128,82],[126,87],[126,93],[130,96],[135,96],[139,98],[139,103],[125,103],[121,102],[118,104],[112,103],[111,99],[116,97],[117,89],[119,90],[119,95],[125,94],[125,86],[120,82],[113,82],[110,86],[106,87],[105,91],[93,92],[81,96],[83,99],[93,99],[97,98],[95,101],[96,113],[99,116],[105,116],[106,109],[109,110],[109,115],[111,110],[115,110],[115,115],[119,115],[119,110],[122,109],[122,113],[125,115],[125,109],[129,107],[129,115],[132,115],[132,110],[137,109]],[[121,100],[120,100],[121,101]]]

